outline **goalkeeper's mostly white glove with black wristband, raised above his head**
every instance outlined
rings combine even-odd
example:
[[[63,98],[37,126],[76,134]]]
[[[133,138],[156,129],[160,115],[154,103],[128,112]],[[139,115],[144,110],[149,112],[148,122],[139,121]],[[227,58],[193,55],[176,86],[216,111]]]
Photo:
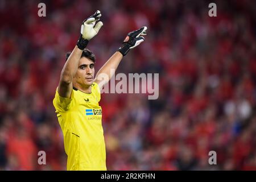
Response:
[[[82,22],[80,30],[81,35],[77,42],[77,47],[79,47],[79,49],[83,50],[87,46],[89,40],[98,34],[98,31],[103,26],[102,22],[96,23],[97,20],[100,20],[100,17],[101,11],[97,10],[96,13]]]

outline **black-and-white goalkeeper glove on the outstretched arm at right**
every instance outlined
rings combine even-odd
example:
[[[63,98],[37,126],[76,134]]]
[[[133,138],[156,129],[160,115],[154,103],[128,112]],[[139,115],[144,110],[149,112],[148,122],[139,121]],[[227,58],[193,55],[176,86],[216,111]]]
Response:
[[[130,32],[125,40],[123,40],[123,45],[119,47],[118,51],[122,53],[123,56],[127,54],[127,52],[130,51],[130,49],[133,49],[134,47],[137,47],[139,44],[141,44],[144,41],[144,37],[141,35],[147,35],[147,27],[139,28],[138,30],[135,30],[133,32]]]

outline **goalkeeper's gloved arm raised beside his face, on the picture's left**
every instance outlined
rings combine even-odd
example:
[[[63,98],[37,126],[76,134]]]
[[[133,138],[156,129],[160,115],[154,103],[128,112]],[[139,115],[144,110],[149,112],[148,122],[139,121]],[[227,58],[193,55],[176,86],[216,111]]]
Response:
[[[102,27],[102,22],[98,22],[96,24],[96,21],[99,20],[100,17],[101,13],[99,10],[97,10],[96,13],[82,22],[79,41],[77,42],[61,71],[60,82],[57,90],[61,97],[71,97],[73,87],[72,81],[79,66],[82,50],[87,46],[89,40],[98,34],[98,31]]]

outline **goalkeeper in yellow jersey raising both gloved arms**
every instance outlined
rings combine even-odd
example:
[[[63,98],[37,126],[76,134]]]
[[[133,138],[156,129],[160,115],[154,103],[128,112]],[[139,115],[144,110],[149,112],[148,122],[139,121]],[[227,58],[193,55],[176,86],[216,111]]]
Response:
[[[113,76],[110,69],[117,69],[122,57],[142,43],[142,35],[146,35],[147,27],[130,32],[94,77],[95,56],[86,47],[103,26],[100,17],[100,11],[96,11],[82,22],[80,38],[73,51],[67,53],[53,99],[68,155],[67,170],[106,170],[100,92]],[[101,77],[101,73],[108,77]]]

